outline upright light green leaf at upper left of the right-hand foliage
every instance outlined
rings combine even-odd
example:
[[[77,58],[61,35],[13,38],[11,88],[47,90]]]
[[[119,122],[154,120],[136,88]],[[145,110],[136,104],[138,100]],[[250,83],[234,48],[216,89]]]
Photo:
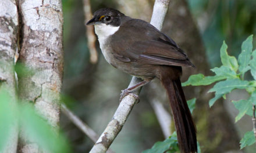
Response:
[[[229,56],[227,54],[227,45],[225,41],[223,41],[223,44],[221,46],[221,62],[224,66],[231,68],[231,70],[234,70],[235,72],[238,69],[236,57]]]

